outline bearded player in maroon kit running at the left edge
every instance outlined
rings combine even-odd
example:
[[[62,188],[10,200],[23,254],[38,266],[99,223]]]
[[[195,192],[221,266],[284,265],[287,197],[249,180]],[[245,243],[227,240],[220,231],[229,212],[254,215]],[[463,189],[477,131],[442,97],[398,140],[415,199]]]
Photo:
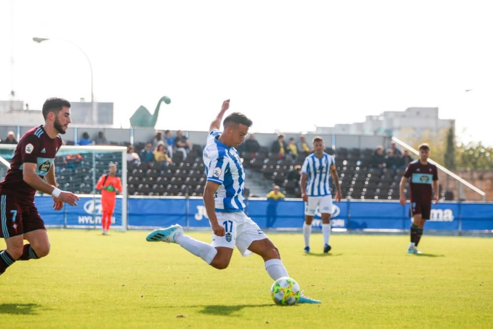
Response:
[[[70,120],[70,103],[62,98],[49,98],[43,105],[44,125],[22,136],[12,158],[10,169],[0,182],[0,238],[6,250],[0,252],[0,274],[16,260],[37,259],[48,255],[50,241],[34,204],[36,190],[53,196],[53,209],[63,203],[76,205],[75,194],[61,191],[55,181],[55,155]],[[44,180],[43,180],[44,178]],[[24,240],[29,244],[24,245]]]

